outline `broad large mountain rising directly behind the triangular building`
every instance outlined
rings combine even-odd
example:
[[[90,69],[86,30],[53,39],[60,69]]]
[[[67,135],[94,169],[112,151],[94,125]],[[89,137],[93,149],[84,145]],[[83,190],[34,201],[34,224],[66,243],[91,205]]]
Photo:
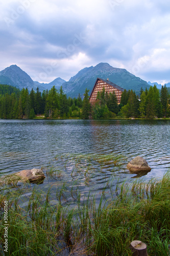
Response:
[[[83,96],[85,89],[91,92],[96,78],[104,78],[109,80],[123,89],[132,89],[139,93],[141,87],[145,90],[150,88],[149,84],[129,73],[126,69],[118,69],[111,67],[108,63],[99,63],[95,67],[85,68],[78,72],[74,77],[71,77],[68,82],[62,84],[64,92],[67,96],[78,97],[79,93]]]

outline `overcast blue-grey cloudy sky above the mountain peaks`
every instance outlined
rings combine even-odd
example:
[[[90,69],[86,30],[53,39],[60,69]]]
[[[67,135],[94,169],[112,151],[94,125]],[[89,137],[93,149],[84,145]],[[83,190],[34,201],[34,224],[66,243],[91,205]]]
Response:
[[[169,0],[6,0],[0,3],[0,70],[69,80],[108,62],[145,81],[170,82]]]

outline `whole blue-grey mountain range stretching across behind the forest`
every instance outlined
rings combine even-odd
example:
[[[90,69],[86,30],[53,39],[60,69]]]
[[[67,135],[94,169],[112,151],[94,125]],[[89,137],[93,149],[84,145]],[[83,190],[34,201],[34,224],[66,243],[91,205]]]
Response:
[[[0,83],[9,84],[20,90],[22,88],[28,88],[29,91],[39,88],[39,91],[50,90],[53,86],[58,90],[61,86],[63,91],[70,97],[78,97],[79,93],[83,97],[85,89],[89,89],[91,92],[96,78],[109,79],[118,86],[126,90],[133,90],[139,93],[141,87],[149,89],[154,85],[151,82],[147,83],[139,77],[129,73],[126,69],[113,68],[108,63],[99,63],[95,67],[84,68],[79,71],[75,76],[71,77],[69,81],[65,81],[60,77],[56,78],[50,83],[40,83],[33,81],[31,77],[18,66],[12,65],[2,71],[0,71]],[[169,83],[170,85],[170,83]],[[158,86],[160,86],[158,84]]]

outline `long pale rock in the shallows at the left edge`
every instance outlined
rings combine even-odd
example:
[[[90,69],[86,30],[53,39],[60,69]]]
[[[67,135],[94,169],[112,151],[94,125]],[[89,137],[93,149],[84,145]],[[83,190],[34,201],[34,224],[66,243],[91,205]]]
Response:
[[[21,170],[18,173],[1,177],[0,183],[17,184],[17,182],[43,183],[45,175],[41,169]]]

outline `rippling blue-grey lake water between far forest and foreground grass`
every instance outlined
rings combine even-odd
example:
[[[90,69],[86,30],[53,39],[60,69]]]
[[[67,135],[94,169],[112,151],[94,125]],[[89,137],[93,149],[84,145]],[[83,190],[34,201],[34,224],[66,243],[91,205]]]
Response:
[[[97,193],[108,181],[161,178],[170,167],[169,138],[169,120],[0,120],[0,173],[57,169],[39,186],[79,181],[82,191]],[[152,168],[142,177],[126,168],[138,155]],[[121,156],[121,165],[99,161],[106,156]]]

